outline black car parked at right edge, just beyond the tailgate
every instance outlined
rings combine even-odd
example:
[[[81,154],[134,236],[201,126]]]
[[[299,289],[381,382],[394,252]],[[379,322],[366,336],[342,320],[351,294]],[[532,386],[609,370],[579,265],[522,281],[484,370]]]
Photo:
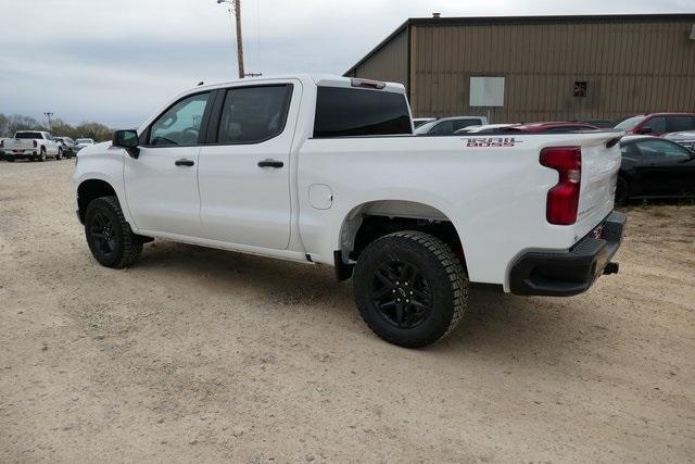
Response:
[[[695,152],[649,136],[623,137],[620,149],[618,203],[631,198],[695,197]]]

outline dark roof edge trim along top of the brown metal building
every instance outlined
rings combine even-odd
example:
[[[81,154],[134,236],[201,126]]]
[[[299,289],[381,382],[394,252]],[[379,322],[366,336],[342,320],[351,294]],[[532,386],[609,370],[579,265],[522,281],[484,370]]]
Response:
[[[407,30],[409,26],[483,26],[506,24],[581,24],[581,23],[634,23],[657,21],[695,21],[693,13],[667,13],[667,14],[579,14],[579,15],[548,15],[548,16],[462,16],[462,17],[410,17],[401,24],[386,39],[379,42],[362,60],[356,62],[343,74],[349,75],[357,66],[363,64],[399,34]]]

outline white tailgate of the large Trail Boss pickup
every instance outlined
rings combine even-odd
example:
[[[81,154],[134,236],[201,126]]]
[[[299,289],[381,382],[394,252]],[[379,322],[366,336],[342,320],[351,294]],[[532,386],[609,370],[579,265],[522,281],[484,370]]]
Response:
[[[582,175],[577,215],[577,235],[585,236],[614,208],[616,181],[620,171],[621,134],[603,133],[582,139]]]

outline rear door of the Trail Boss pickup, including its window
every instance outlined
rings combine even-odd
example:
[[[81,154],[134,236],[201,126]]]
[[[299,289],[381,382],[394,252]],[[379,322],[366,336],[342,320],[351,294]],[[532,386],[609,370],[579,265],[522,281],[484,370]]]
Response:
[[[283,250],[290,241],[290,150],[299,80],[219,91],[199,183],[205,237]]]

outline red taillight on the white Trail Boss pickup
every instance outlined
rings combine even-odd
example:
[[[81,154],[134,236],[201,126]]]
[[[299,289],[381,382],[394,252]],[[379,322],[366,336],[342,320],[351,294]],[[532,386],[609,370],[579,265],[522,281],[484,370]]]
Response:
[[[579,147],[551,147],[541,150],[541,164],[559,174],[548,190],[545,217],[548,223],[568,226],[577,222],[582,179],[582,151]]]

